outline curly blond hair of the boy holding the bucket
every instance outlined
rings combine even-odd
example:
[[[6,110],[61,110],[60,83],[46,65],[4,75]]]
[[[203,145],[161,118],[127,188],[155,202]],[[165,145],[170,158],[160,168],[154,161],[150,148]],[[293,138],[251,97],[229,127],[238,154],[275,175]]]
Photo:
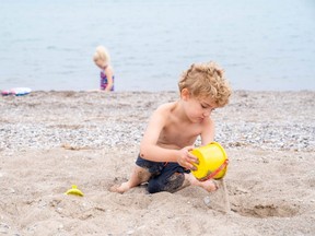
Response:
[[[223,69],[214,62],[194,63],[183,72],[178,87],[179,91],[187,88],[197,98],[210,97],[217,106],[223,107],[232,93],[223,74]]]

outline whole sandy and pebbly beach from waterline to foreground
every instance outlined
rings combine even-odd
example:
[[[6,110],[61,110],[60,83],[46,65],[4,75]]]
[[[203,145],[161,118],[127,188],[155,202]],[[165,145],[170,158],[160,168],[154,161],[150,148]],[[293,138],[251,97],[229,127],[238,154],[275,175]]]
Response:
[[[151,113],[176,92],[0,97],[1,235],[315,235],[315,92],[236,91],[217,109],[224,191],[126,180]],[[198,142],[196,145],[198,145]],[[84,197],[65,194],[77,185]]]

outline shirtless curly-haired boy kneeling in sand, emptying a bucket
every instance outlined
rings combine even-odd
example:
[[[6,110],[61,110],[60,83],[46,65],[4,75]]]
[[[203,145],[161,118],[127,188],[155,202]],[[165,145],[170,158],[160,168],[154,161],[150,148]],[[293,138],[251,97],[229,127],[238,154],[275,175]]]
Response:
[[[148,182],[150,193],[174,192],[188,185],[217,190],[212,180],[199,181],[190,174],[198,160],[189,151],[198,135],[201,145],[213,141],[210,115],[229,103],[231,88],[223,70],[213,62],[192,64],[183,73],[178,87],[180,98],[161,105],[150,118],[130,179],[113,186],[112,191],[124,193],[143,182]]]

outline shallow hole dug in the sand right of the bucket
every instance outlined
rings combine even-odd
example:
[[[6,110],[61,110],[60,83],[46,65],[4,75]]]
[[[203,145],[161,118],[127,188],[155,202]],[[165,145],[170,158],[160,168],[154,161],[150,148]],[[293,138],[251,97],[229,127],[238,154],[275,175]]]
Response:
[[[259,203],[255,201],[255,204],[250,204],[253,200],[243,199],[245,204],[232,203],[232,211],[247,217],[292,217],[299,213],[296,205],[289,205],[289,203]],[[249,202],[249,204],[247,204]]]

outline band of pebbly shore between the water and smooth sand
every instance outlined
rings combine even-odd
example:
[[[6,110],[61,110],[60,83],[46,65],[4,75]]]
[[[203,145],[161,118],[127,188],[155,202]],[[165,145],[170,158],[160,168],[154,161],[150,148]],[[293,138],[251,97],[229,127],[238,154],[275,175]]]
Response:
[[[303,107],[299,103],[299,98],[315,101],[315,92],[295,92],[294,96],[283,92],[278,101],[272,92],[242,93],[236,92],[229,106],[213,113],[218,120],[215,141],[229,149],[315,151],[313,105],[305,103]],[[152,111],[176,99],[177,94],[125,92],[104,96],[34,92],[32,96],[4,97],[0,105],[0,152],[51,149],[66,143],[91,149],[139,145]],[[266,107],[266,97],[272,96],[276,102]]]

